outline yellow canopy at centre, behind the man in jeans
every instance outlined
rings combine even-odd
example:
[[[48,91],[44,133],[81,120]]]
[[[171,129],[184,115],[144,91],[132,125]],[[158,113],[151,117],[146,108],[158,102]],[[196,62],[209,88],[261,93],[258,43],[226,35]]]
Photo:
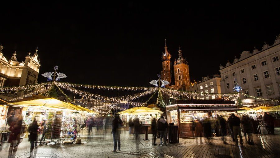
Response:
[[[146,115],[146,114],[158,114],[160,113],[160,110],[155,110],[147,107],[135,107],[128,109],[127,111],[119,114],[132,114],[132,115]]]

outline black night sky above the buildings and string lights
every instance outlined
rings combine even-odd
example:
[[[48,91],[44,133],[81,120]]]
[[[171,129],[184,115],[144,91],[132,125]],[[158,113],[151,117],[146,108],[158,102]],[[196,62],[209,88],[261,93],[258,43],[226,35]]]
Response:
[[[38,46],[40,74],[58,65],[65,82],[150,86],[162,69],[165,38],[172,62],[181,46],[191,80],[201,80],[280,34],[279,2],[118,2],[1,4],[4,56],[16,50],[23,61]]]

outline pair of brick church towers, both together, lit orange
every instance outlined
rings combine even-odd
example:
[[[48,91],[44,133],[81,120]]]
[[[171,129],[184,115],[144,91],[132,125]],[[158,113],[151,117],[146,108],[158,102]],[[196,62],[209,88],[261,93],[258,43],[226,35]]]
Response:
[[[184,59],[182,50],[179,47],[179,57],[174,62],[174,66],[171,65],[170,59],[171,54],[167,49],[165,43],[164,52],[162,54],[162,71],[161,79],[170,82],[169,85],[166,85],[166,88],[175,89],[175,90],[189,90],[189,65],[188,62]],[[172,73],[174,72],[174,74]]]

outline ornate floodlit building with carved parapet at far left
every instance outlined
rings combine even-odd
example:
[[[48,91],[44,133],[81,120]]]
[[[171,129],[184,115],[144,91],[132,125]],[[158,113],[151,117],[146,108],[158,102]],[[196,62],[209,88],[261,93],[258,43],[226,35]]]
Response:
[[[18,62],[16,59],[16,52],[13,53],[11,59],[7,60],[3,56],[2,50],[3,46],[0,45],[0,87],[37,84],[41,66],[38,49],[35,50],[34,55],[30,55],[29,52],[25,61],[22,62]],[[22,93],[18,95],[22,95]]]

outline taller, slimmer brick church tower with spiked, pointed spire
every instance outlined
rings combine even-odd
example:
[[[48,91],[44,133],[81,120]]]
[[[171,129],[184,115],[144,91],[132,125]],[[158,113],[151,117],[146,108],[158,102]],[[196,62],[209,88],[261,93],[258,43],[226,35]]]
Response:
[[[171,58],[171,54],[170,51],[167,50],[167,45],[165,40],[164,52],[161,57],[162,60],[161,79],[166,80],[169,83],[171,82],[170,58]],[[166,85],[166,88],[168,88],[168,86],[169,85]]]

